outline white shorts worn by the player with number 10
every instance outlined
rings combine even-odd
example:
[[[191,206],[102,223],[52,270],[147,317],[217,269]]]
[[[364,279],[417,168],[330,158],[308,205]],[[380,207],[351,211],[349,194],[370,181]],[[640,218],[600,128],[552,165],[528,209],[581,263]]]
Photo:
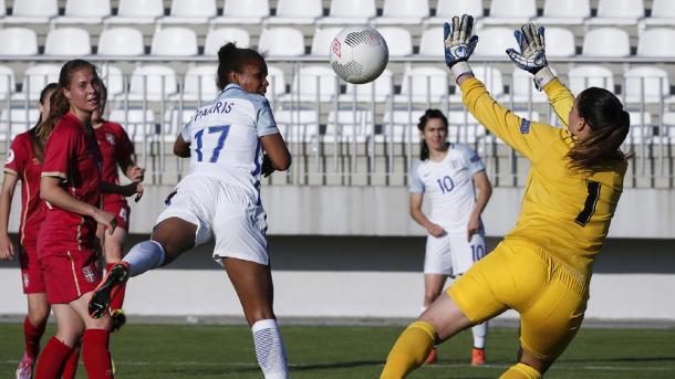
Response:
[[[425,274],[461,275],[486,255],[485,234],[476,233],[471,241],[466,234],[427,236],[424,256]]]

